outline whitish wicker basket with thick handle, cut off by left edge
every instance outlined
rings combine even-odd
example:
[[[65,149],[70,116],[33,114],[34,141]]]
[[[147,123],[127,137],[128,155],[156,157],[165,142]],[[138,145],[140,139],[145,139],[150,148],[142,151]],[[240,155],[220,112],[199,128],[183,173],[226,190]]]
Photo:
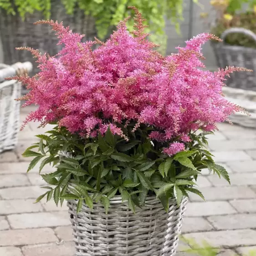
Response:
[[[16,63],[12,66],[0,64],[0,153],[15,148],[20,128],[21,84],[15,80],[5,81],[5,77],[14,76],[32,69],[30,62]]]

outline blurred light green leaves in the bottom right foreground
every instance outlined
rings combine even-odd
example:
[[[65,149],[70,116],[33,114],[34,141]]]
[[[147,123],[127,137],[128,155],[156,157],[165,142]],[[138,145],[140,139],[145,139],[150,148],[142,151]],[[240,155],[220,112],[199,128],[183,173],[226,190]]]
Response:
[[[199,245],[194,239],[188,239],[184,238],[183,236],[180,237],[181,241],[184,241],[186,244],[188,244],[191,248],[184,250],[184,252],[195,254],[199,256],[217,256],[218,253],[220,253],[219,248],[214,248],[214,246],[211,246],[207,241],[202,241],[201,245]],[[234,253],[234,256],[237,254]],[[256,250],[251,250],[248,252],[248,254],[245,254],[243,256],[256,256]]]

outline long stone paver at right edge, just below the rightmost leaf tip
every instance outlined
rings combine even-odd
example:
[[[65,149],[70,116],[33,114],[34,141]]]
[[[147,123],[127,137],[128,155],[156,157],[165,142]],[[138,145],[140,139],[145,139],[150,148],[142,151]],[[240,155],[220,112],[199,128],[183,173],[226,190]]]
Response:
[[[200,191],[205,196],[206,201],[256,198],[256,193],[246,186],[200,188]],[[190,193],[189,198],[191,201],[204,201],[194,193]]]

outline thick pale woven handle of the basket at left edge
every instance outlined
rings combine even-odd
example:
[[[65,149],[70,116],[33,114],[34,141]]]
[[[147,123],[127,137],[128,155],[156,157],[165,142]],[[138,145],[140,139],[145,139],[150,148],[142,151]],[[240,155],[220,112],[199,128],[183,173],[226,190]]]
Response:
[[[6,65],[1,64],[1,66],[4,67]],[[24,73],[31,72],[32,67],[32,63],[26,61],[23,63],[17,62],[11,66],[0,69],[0,82],[5,81],[6,77],[13,77],[15,75],[22,75]]]

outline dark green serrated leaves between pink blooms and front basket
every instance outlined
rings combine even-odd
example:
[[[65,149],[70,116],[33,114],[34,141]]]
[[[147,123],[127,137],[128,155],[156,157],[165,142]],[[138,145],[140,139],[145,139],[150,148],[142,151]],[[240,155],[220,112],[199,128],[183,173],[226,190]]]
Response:
[[[48,191],[36,202],[45,196],[47,201],[53,197],[56,205],[62,205],[64,199],[77,200],[79,211],[83,202],[92,209],[93,202],[100,201],[108,211],[109,200],[121,195],[135,211],[136,205],[143,206],[147,195],[156,195],[168,210],[170,198],[176,198],[178,205],[189,192],[204,198],[194,188],[204,168],[230,182],[225,169],[215,164],[212,154],[204,148],[206,133],[190,134],[192,142],[186,143],[189,150],[168,157],[162,154],[165,144],[153,145],[148,140],[150,128],[140,127],[133,133],[128,126],[123,131],[131,138],[129,141],[113,135],[109,129],[105,136],[99,134],[97,138],[80,138],[58,127],[37,136],[40,143],[23,154],[35,156],[28,171],[40,160],[40,171],[49,163],[56,166],[56,171],[41,174],[51,186],[43,187]]]

